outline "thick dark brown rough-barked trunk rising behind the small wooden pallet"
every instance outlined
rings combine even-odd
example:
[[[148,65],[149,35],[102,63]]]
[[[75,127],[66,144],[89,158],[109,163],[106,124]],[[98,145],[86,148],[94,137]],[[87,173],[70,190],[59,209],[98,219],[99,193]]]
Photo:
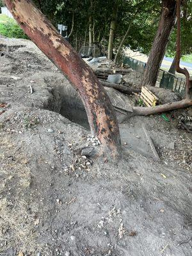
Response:
[[[175,24],[176,1],[163,0],[162,7],[159,26],[144,73],[143,85],[145,86],[156,86],[157,76],[164,57],[166,45],[168,44],[170,33]]]

